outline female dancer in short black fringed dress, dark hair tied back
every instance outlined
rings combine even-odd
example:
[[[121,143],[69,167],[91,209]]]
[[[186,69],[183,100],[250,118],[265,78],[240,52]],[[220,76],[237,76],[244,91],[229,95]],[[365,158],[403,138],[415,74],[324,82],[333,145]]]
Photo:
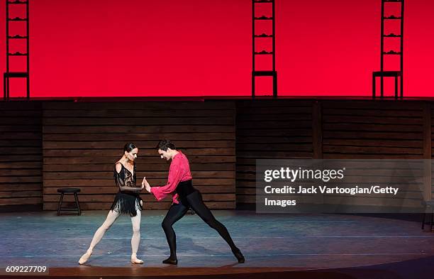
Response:
[[[104,233],[110,228],[111,224],[119,217],[120,214],[130,214],[131,223],[133,224],[133,237],[131,238],[131,263],[143,263],[137,258],[137,250],[140,242],[140,210],[143,209],[143,201],[140,198],[139,192],[142,187],[135,187],[135,163],[137,158],[138,148],[134,143],[127,143],[123,147],[123,156],[115,164],[113,176],[116,186],[119,187],[119,192],[116,194],[115,200],[111,205],[106,221],[99,229],[96,230],[94,238],[91,241],[87,252],[79,259],[79,264],[86,263],[91,256],[96,244],[101,241]]]

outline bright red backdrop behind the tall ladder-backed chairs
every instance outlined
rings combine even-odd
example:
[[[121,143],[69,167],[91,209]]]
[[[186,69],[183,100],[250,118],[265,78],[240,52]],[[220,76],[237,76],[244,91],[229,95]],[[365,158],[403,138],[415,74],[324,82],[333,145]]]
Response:
[[[279,94],[369,96],[372,71],[379,70],[380,3],[276,0]],[[32,97],[250,94],[250,0],[30,0],[30,5]],[[432,11],[434,1],[406,1],[408,97],[434,96]],[[4,15],[2,1],[1,26]],[[4,72],[4,40],[0,48]],[[22,83],[12,82],[14,96]],[[260,82],[259,90],[270,84]]]

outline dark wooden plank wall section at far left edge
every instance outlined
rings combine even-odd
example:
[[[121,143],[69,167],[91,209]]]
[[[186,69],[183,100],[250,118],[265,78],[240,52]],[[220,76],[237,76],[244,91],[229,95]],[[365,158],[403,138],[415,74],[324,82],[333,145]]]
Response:
[[[41,106],[0,102],[0,206],[43,202]]]

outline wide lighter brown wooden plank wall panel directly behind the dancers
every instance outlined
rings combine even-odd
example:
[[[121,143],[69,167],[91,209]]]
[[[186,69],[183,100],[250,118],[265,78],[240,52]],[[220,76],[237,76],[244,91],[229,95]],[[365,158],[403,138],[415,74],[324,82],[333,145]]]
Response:
[[[118,192],[113,164],[123,145],[139,147],[138,184],[165,185],[169,163],[155,146],[168,138],[189,158],[194,186],[214,209],[235,208],[233,102],[46,102],[43,107],[44,209],[59,187],[78,187],[82,209],[109,209]],[[140,185],[140,184],[139,184]],[[145,209],[167,209],[143,192]],[[72,197],[67,198],[72,201]]]

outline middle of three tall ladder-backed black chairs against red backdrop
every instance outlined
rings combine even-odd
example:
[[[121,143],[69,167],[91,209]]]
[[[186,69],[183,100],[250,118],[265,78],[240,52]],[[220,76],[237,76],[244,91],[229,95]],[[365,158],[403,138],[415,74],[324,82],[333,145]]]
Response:
[[[271,4],[271,5],[270,5]],[[268,5],[271,6],[270,15],[255,15],[255,6]],[[261,7],[263,8],[263,7]],[[276,37],[275,37],[275,24],[274,24],[274,0],[252,0],[252,98],[255,98],[255,78],[256,77],[272,77],[273,78],[273,97],[277,97],[277,72],[276,72]],[[272,21],[272,32],[257,34],[255,31],[256,21]],[[256,40],[272,40],[272,50],[260,50],[255,48]],[[255,58],[257,55],[268,55],[272,57],[272,69],[259,70],[255,68]]]

